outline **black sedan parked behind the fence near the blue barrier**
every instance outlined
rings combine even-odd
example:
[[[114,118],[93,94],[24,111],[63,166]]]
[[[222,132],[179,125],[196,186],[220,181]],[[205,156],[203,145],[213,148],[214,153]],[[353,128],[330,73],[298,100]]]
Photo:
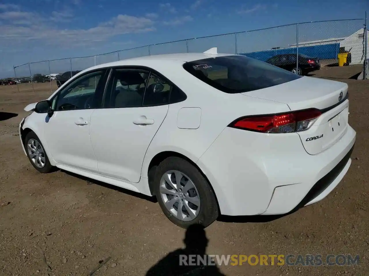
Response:
[[[296,67],[296,54],[277,54],[265,61],[274,66],[291,71],[293,73],[305,75],[309,72],[320,70],[319,58],[309,57],[304,54],[299,54],[299,67]]]

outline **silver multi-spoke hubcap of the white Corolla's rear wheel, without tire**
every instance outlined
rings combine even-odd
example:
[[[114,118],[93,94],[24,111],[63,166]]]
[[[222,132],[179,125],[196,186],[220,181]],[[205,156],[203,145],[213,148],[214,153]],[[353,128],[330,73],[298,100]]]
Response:
[[[199,215],[199,193],[193,181],[180,171],[167,171],[162,176],[160,195],[165,207],[177,219],[190,221]]]

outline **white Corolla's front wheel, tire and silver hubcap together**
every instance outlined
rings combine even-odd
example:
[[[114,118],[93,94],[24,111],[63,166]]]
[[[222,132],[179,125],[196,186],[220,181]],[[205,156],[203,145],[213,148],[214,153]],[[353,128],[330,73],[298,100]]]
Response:
[[[40,173],[49,173],[53,166],[50,164],[44,146],[35,132],[29,132],[24,139],[24,148],[32,166]]]

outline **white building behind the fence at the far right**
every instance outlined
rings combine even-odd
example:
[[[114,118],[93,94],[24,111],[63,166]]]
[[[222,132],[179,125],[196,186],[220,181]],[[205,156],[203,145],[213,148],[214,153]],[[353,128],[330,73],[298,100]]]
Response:
[[[368,34],[367,37],[369,37],[369,31],[366,32]],[[364,29],[360,29],[359,31],[353,33],[352,35],[348,36],[347,38],[345,38],[340,42],[340,47],[345,47],[345,50],[351,53],[350,64],[364,63],[365,57],[364,39],[365,39]],[[366,49],[368,52],[369,39],[366,41]]]

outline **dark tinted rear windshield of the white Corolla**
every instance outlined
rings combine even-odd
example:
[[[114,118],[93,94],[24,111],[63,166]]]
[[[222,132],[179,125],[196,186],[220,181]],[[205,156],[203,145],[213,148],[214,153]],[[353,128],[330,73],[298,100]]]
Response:
[[[242,93],[300,78],[282,68],[246,56],[221,56],[190,61],[183,68],[208,85],[226,92]]]

